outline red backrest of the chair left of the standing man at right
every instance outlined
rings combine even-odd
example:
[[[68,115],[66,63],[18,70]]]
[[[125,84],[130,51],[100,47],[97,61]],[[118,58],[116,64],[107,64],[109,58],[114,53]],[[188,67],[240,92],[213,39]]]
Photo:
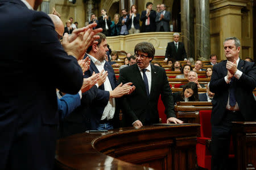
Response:
[[[200,115],[200,132],[201,137],[211,138],[212,137],[212,127],[210,124],[210,115],[212,114],[212,110],[201,110],[199,112]]]

